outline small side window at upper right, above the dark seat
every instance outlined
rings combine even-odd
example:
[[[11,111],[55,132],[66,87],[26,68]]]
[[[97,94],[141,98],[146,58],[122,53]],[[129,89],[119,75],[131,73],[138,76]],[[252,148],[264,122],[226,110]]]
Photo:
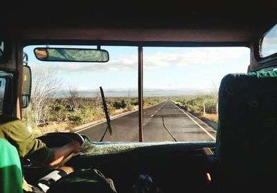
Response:
[[[260,53],[262,58],[277,53],[277,24],[262,38]]]

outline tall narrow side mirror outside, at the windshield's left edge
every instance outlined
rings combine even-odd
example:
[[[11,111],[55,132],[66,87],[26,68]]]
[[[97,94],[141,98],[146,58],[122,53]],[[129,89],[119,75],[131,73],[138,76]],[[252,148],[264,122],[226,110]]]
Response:
[[[30,92],[32,87],[32,75],[29,66],[23,66],[22,85],[22,108],[27,108],[30,103]]]

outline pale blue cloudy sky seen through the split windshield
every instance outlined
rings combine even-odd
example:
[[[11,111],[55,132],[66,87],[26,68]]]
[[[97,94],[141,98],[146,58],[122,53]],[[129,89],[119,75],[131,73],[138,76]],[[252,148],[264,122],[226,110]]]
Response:
[[[101,47],[109,51],[109,62],[105,63],[42,62],[34,56],[35,47],[39,46],[24,49],[33,74],[56,69],[61,90],[74,86],[88,92],[102,86],[111,95],[137,94],[137,47]],[[218,87],[226,74],[247,72],[249,60],[247,47],[144,47],[143,89],[152,96],[206,92]]]

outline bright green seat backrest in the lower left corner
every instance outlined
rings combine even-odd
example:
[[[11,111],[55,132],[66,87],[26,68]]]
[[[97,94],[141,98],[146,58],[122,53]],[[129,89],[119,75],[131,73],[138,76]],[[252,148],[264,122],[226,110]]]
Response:
[[[22,171],[15,146],[0,138],[0,192],[23,192]]]

